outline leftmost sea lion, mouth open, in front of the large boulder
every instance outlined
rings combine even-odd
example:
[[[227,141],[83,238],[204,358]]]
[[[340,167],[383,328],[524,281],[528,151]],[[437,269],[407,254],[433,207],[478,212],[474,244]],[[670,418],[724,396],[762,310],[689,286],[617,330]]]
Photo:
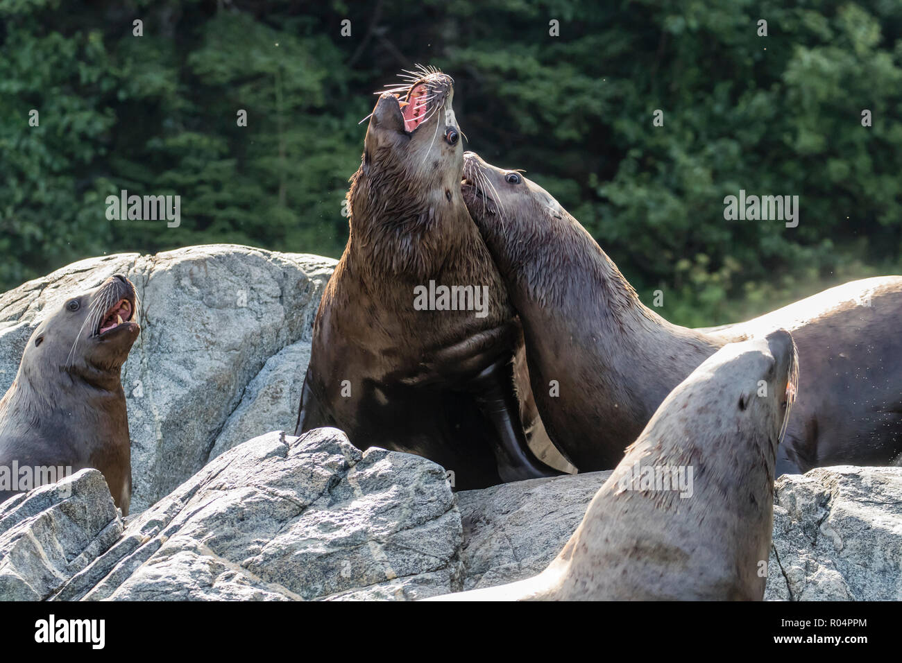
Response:
[[[132,455],[120,377],[141,331],[136,302],[133,283],[116,274],[66,299],[35,327],[0,401],[0,468],[7,476],[27,467],[40,484],[48,470],[38,468],[93,467],[128,515]],[[17,492],[0,490],[0,502]]]

